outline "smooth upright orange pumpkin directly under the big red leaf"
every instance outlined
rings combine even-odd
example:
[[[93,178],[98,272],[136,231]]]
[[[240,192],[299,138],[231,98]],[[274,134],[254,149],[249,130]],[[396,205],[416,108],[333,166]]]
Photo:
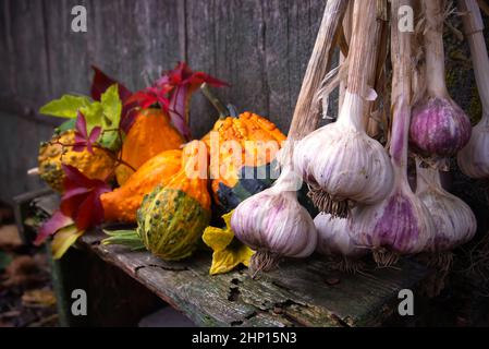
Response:
[[[138,169],[143,164],[161,152],[179,148],[183,136],[171,124],[167,112],[157,108],[139,111],[122,144],[122,160]],[[123,185],[134,171],[125,165],[117,168],[119,185]]]

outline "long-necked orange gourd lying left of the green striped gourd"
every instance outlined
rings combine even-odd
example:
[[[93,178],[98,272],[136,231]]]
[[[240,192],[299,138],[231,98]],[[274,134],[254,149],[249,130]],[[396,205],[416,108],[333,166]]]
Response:
[[[156,186],[166,185],[181,169],[182,151],[172,149],[146,161],[130,179],[100,200],[106,221],[135,222],[143,197]]]

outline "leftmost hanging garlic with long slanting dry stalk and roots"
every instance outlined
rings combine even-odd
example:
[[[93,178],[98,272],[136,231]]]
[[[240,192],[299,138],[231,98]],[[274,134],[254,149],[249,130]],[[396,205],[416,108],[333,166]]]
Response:
[[[308,212],[297,202],[302,180],[292,170],[294,140],[316,128],[320,113],[314,96],[331,62],[332,45],[346,10],[347,1],[330,0],[325,8],[313,56],[307,67],[301,94],[279,163],[282,172],[276,183],[243,201],[231,217],[235,237],[250,246],[252,272],[272,268],[280,257],[306,257],[316,249],[317,231]]]

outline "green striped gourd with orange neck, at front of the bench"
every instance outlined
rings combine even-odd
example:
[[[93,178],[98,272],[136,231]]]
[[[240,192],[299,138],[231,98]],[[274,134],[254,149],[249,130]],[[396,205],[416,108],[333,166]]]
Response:
[[[210,221],[207,180],[188,177],[188,169],[195,166],[196,143],[185,146],[182,169],[166,186],[147,195],[137,212],[137,234],[149,252],[166,261],[190,256]]]

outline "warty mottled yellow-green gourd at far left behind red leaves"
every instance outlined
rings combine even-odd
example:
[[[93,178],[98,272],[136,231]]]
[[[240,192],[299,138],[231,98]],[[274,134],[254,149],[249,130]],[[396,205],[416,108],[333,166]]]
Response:
[[[89,179],[110,180],[115,160],[107,151],[93,148],[74,152],[71,144],[75,143],[75,131],[69,130],[56,134],[50,142],[39,148],[39,176],[54,191],[63,191],[64,172],[61,165],[70,165],[78,169]],[[64,144],[64,145],[62,145]]]

